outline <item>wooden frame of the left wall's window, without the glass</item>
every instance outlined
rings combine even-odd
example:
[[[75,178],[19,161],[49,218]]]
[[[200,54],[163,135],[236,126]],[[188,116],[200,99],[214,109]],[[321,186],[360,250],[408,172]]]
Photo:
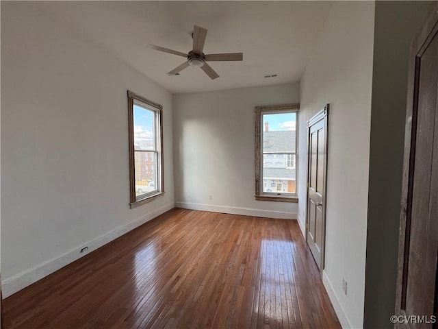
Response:
[[[136,208],[147,202],[151,202],[156,197],[164,195],[164,154],[163,154],[163,106],[150,101],[132,91],[128,90],[128,121],[129,121],[129,206]],[[134,105],[141,106],[146,110],[154,112],[154,138],[155,149],[153,150],[136,150],[134,149]],[[157,188],[149,193],[143,195],[136,195],[136,152],[155,152],[156,166],[157,166]],[[149,158],[149,156],[148,156]],[[153,170],[154,166],[151,166]],[[155,173],[155,171],[153,171]]]

